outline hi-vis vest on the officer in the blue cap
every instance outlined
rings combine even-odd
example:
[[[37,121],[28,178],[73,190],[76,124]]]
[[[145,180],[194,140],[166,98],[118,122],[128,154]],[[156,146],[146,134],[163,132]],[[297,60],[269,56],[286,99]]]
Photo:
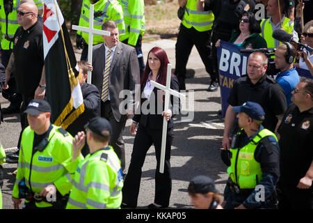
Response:
[[[262,180],[261,164],[255,160],[255,149],[259,141],[268,136],[273,136],[277,140],[273,132],[263,129],[243,148],[230,148],[232,157],[227,173],[232,182],[239,185],[241,189],[253,189]]]

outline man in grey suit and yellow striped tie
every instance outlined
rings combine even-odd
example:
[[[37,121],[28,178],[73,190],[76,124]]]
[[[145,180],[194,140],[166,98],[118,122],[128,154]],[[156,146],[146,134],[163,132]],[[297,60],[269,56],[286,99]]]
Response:
[[[111,36],[102,36],[104,43],[93,48],[91,82],[97,86],[101,95],[100,115],[111,123],[110,144],[120,158],[124,171],[125,146],[122,132],[127,116],[134,113],[135,85],[139,84],[140,70],[136,49],[119,42],[118,26],[115,22],[104,22],[102,30],[109,31]],[[125,92],[121,93],[123,90]],[[125,100],[127,109],[123,106]]]

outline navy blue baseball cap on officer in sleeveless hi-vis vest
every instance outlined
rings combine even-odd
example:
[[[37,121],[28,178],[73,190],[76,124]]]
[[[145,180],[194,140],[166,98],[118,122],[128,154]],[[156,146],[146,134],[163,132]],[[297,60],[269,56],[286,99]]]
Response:
[[[232,110],[237,113],[246,113],[249,117],[255,120],[264,121],[264,109],[257,102],[245,102],[241,106],[232,107]]]

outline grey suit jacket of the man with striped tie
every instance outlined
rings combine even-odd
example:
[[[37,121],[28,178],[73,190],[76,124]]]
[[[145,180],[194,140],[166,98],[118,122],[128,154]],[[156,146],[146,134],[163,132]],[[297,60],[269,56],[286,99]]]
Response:
[[[91,78],[91,83],[95,84],[99,90],[100,97],[104,65],[105,47],[104,43],[101,43],[93,47],[93,76]],[[131,105],[131,107],[128,109],[134,109],[135,85],[139,84],[140,78],[138,58],[134,47],[120,42],[116,45],[109,77],[110,102],[113,115],[116,121],[126,120],[126,114],[120,114],[120,104],[123,100],[130,100],[129,105]],[[120,98],[122,90],[129,90],[131,97],[127,98],[125,95],[124,98]]]

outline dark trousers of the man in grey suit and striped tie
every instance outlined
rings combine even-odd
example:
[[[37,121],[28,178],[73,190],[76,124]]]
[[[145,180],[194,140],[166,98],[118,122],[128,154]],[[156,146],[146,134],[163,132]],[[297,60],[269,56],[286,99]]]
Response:
[[[118,158],[121,162],[122,171],[125,169],[125,144],[123,141],[123,131],[125,128],[125,124],[127,119],[122,119],[121,121],[116,121],[111,107],[111,102],[109,100],[106,100],[106,102],[103,102],[101,100],[101,116],[103,118],[106,118],[112,128],[112,134],[110,139],[110,145],[113,147],[113,150],[115,151],[116,155],[118,155]]]

